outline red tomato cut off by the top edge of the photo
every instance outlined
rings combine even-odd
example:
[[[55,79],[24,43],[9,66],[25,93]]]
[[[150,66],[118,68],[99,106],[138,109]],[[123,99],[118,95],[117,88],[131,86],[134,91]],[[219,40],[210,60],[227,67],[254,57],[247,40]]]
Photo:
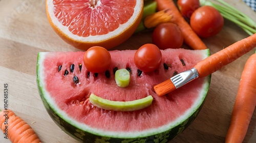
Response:
[[[184,17],[190,18],[192,13],[200,7],[199,0],[178,0],[178,8]]]

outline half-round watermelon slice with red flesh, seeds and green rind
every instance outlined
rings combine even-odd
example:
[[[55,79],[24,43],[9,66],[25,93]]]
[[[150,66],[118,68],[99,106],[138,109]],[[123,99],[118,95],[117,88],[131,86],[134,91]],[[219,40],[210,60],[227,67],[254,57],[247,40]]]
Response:
[[[110,51],[106,73],[91,73],[83,65],[84,52],[39,52],[39,94],[53,121],[83,142],[167,142],[197,117],[208,92],[210,75],[196,79],[166,96],[158,97],[154,85],[192,68],[209,56],[209,50],[162,50],[162,64],[141,73],[134,64],[136,50]],[[130,84],[120,88],[114,70],[129,69]],[[112,101],[133,101],[152,95],[150,106],[135,111],[113,111],[94,106],[95,94]]]

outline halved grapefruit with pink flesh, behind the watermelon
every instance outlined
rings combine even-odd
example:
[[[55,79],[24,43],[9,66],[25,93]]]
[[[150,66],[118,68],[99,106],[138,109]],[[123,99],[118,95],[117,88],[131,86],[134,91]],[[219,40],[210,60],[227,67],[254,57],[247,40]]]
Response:
[[[53,30],[82,50],[113,48],[132,36],[143,13],[143,0],[47,0]]]

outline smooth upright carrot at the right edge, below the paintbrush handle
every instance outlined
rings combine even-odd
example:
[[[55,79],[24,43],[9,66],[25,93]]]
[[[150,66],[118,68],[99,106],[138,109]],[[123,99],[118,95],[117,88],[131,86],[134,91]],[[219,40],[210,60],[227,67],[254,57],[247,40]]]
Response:
[[[256,106],[256,53],[247,60],[241,75],[236,101],[225,142],[243,142]]]

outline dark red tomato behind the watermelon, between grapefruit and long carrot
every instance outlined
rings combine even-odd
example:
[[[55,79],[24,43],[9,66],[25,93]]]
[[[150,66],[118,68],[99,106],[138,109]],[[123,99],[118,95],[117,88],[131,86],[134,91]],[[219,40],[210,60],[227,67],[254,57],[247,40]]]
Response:
[[[176,24],[161,23],[155,27],[152,41],[160,49],[180,48],[183,44],[183,35]]]

